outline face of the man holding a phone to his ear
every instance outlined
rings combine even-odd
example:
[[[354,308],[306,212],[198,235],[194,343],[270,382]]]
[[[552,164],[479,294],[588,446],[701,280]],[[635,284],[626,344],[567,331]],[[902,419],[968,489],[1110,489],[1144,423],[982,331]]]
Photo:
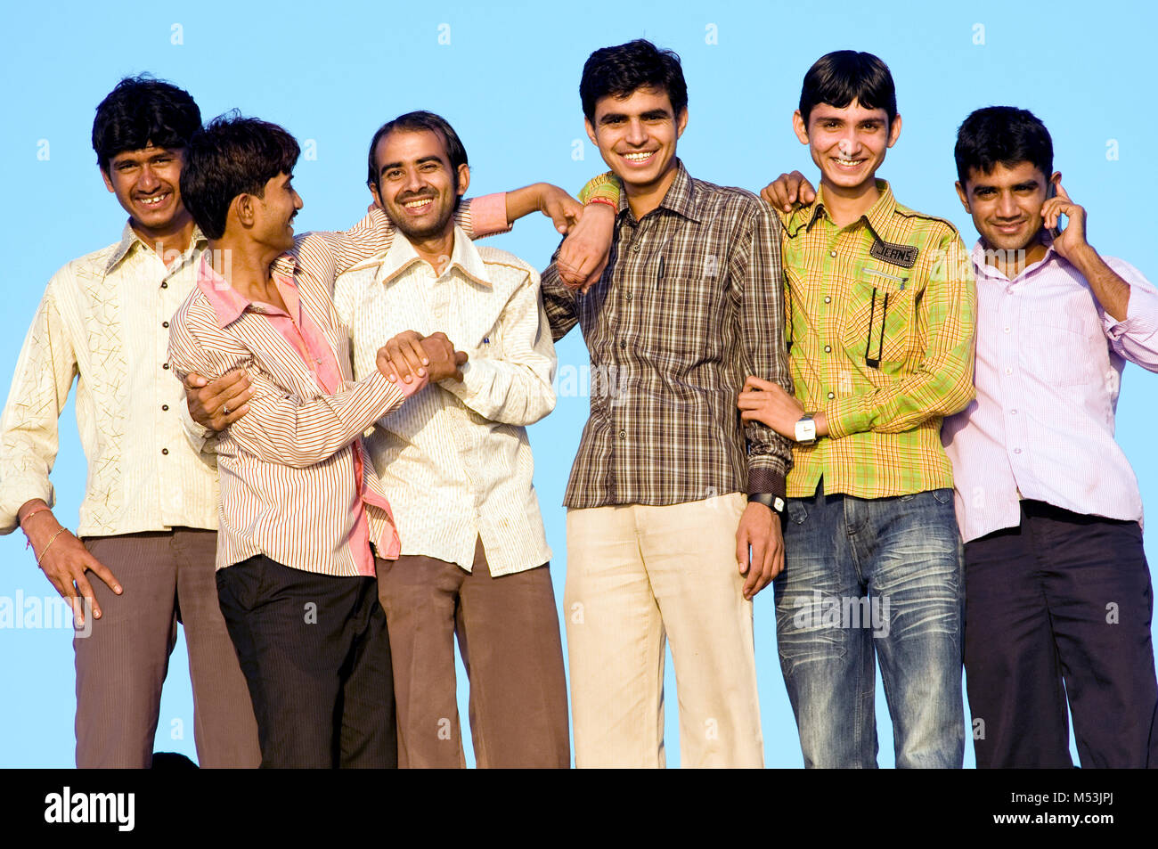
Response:
[[[957,193],[989,247],[1020,250],[1034,244],[1041,233],[1049,182],[1032,162],[1012,168],[997,163],[990,174],[970,168],[965,185],[957,184]]]

